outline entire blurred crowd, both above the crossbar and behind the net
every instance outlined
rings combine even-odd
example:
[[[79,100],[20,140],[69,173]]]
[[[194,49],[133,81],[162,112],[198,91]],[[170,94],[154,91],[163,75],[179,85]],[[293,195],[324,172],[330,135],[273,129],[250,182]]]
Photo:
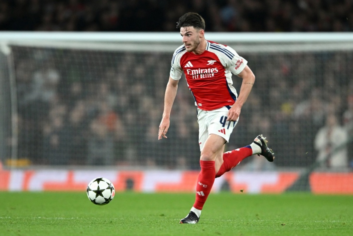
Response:
[[[351,0],[2,0],[0,30],[177,33],[176,21],[191,11],[205,18],[207,31],[353,30]],[[26,47],[13,47],[13,53],[19,158],[199,168],[196,108],[185,81],[168,139],[157,140],[170,53]],[[242,54],[257,79],[227,149],[248,145],[261,132],[278,166],[303,167],[316,159],[323,167],[351,165],[353,145],[341,157],[332,154],[353,135],[352,55]],[[264,167],[244,162],[244,168]]]

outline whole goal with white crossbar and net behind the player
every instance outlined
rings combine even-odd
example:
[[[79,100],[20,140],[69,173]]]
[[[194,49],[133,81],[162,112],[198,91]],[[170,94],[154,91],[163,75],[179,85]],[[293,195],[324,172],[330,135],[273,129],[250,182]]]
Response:
[[[170,61],[181,45],[177,33],[2,36],[4,166],[199,169],[196,107],[185,80],[179,83],[168,139],[157,140]],[[347,102],[353,95],[352,34],[208,33],[206,38],[232,46],[256,75],[226,149],[248,145],[263,134],[276,160],[267,165],[247,158],[239,169],[312,165],[320,150],[330,148],[315,141],[328,114],[335,115],[346,132],[339,139],[348,143],[352,120],[343,122],[343,117],[352,109]],[[233,76],[233,81],[239,92],[241,79]],[[348,144],[337,151],[343,161],[336,171],[349,167],[352,152],[347,149]],[[321,167],[330,166],[325,162]]]

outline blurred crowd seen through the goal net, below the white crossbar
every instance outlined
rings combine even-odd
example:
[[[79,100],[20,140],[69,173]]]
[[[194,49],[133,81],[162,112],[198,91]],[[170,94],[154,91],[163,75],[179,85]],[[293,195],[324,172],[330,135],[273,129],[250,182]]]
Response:
[[[27,47],[13,52],[20,158],[34,164],[199,167],[196,107],[185,80],[168,139],[157,140],[170,53]],[[347,152],[343,161],[332,163],[325,155],[353,134],[352,52],[242,56],[256,83],[227,150],[262,133],[275,150],[277,166],[303,167],[321,158],[325,167],[348,167]],[[316,137],[333,126],[339,131],[327,128],[321,131],[324,138]],[[247,164],[244,168],[265,167]]]

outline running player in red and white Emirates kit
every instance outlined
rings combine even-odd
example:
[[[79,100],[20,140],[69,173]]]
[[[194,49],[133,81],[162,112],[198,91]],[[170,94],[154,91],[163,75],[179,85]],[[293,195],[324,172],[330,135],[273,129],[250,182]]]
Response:
[[[184,14],[179,18],[177,27],[184,44],[173,54],[158,140],[167,138],[170,111],[178,81],[184,72],[197,105],[201,171],[196,184],[195,203],[180,223],[196,224],[216,177],[254,154],[261,154],[273,162],[274,153],[262,134],[248,146],[223,153],[239,120],[241,107],[252,89],[255,75],[247,66],[247,61],[231,47],[205,39],[205,21],[199,14]],[[232,73],[243,80],[239,96],[232,86]]]

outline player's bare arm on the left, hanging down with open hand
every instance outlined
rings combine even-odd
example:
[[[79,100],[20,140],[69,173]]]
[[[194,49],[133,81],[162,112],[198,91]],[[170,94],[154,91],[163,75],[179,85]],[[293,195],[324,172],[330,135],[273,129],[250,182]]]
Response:
[[[167,138],[166,134],[168,132],[170,123],[170,112],[172,111],[175,96],[177,95],[179,80],[174,80],[169,77],[169,81],[166,88],[166,93],[164,95],[164,111],[162,115],[162,121],[159,125],[158,140]]]

